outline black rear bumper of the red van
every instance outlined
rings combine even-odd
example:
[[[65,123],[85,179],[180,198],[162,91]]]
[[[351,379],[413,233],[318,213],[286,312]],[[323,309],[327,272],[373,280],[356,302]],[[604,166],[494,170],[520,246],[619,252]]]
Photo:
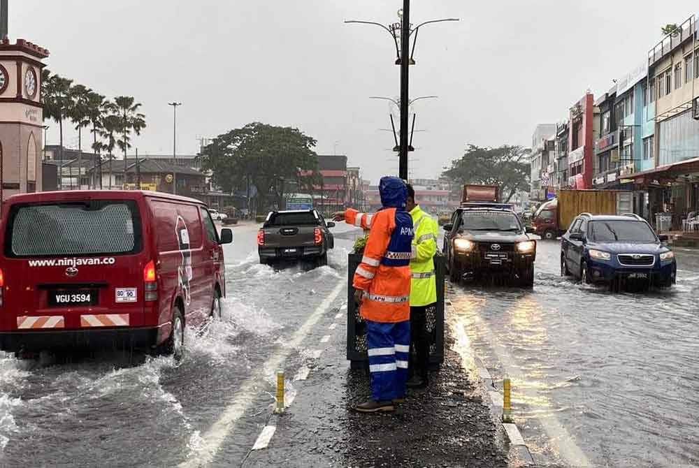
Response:
[[[49,349],[149,349],[158,344],[158,328],[108,328],[106,330],[36,330],[0,332],[0,350]]]

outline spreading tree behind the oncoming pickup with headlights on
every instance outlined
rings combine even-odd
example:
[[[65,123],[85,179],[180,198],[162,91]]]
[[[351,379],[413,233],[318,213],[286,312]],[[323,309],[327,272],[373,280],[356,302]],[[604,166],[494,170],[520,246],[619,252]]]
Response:
[[[528,189],[531,175],[528,151],[521,146],[503,145],[497,148],[468,145],[461,159],[443,175],[459,184],[485,184],[500,187],[503,203],[518,190]]]

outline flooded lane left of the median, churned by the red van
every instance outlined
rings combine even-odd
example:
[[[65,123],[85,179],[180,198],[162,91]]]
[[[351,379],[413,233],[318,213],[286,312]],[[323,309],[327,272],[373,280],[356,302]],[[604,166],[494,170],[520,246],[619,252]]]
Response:
[[[187,330],[179,365],[121,352],[46,367],[0,358],[1,466],[240,465],[271,412],[275,372],[289,374],[288,400],[291,376],[319,358],[292,337],[333,291],[321,312],[334,316],[346,301],[354,228],[338,226],[347,238],[338,235],[329,266],[315,270],[259,265],[257,227],[234,231],[223,319],[203,334]]]

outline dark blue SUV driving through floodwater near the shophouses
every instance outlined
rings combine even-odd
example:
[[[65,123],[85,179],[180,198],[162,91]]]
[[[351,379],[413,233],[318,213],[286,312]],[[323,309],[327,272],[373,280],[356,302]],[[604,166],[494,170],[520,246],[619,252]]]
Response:
[[[635,284],[669,288],[675,284],[675,252],[663,245],[637,214],[580,214],[561,238],[561,275],[611,286]]]

